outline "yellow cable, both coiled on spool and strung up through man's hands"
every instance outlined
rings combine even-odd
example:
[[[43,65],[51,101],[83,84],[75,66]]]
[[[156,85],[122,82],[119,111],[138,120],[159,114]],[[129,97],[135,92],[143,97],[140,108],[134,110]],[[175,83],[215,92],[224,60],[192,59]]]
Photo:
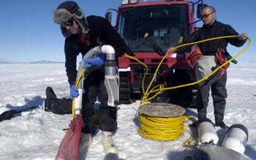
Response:
[[[197,41],[197,42],[190,43],[190,44],[182,44],[182,45],[179,45],[177,47],[174,47],[174,49],[177,49],[178,47],[184,47],[184,46],[187,46],[187,45],[202,43],[204,41],[211,41],[211,40],[214,40],[214,39],[234,38],[234,37],[237,37],[237,36],[221,36],[221,37],[217,37],[217,38],[213,38],[213,39],[206,39],[206,40],[203,40],[203,41]],[[148,89],[146,90],[146,92],[144,92],[144,87],[143,87],[143,94],[144,95],[140,100],[140,105],[148,102],[148,100],[151,100],[153,97],[157,96],[164,89],[176,89],[176,88],[180,88],[180,87],[187,87],[187,86],[190,86],[190,85],[200,83],[200,81],[204,81],[209,76],[211,76],[213,73],[217,72],[224,65],[226,65],[227,63],[230,63],[230,61],[232,61],[233,59],[235,59],[236,57],[241,55],[242,52],[244,52],[246,49],[248,49],[252,40],[248,36],[246,36],[246,38],[249,39],[249,44],[247,45],[247,47],[245,49],[243,49],[241,52],[239,52],[232,59],[228,60],[226,63],[220,65],[219,68],[215,69],[213,72],[211,72],[205,78],[200,79],[199,81],[195,81],[195,82],[190,83],[190,84],[183,84],[183,85],[176,86],[176,87],[164,88],[163,85],[160,84],[160,85],[157,85],[156,87],[154,87],[153,89],[151,89],[150,92],[148,92],[148,89],[151,87],[151,84],[154,81],[155,76],[157,75],[157,71],[158,71],[160,65],[162,64],[162,61],[168,55],[168,53],[167,53],[165,55],[165,57],[163,57],[161,62],[159,63],[159,65],[157,67],[157,70],[154,73],[154,77],[153,77],[151,83],[149,84]],[[131,57],[129,55],[125,55],[125,56],[129,57],[129,58],[132,58],[134,60],[137,60],[135,57]],[[146,73],[147,73],[148,72],[148,66],[145,65],[144,63],[140,62],[139,60],[137,60],[137,61],[139,63],[143,64],[144,66],[146,66],[146,68],[147,68]],[[144,84],[145,77],[146,77],[146,74],[143,77],[143,84]],[[159,87],[159,89],[155,89],[157,87]],[[157,94],[155,94],[153,97],[148,98],[148,95],[150,95],[153,92],[157,92]],[[183,115],[181,115],[181,116],[175,116],[175,117],[158,117],[158,116],[148,116],[144,113],[139,113],[138,119],[140,121],[140,127],[138,128],[138,132],[140,133],[140,135],[143,135],[145,137],[149,137],[149,138],[156,139],[156,140],[174,140],[174,139],[177,139],[178,137],[181,137],[181,135],[182,135],[182,133],[184,132],[184,129],[185,129],[188,132],[190,132],[191,135],[192,135],[184,143],[184,145],[186,145],[186,146],[187,146],[188,142],[190,140],[192,140],[192,138],[194,137],[191,130],[184,128],[184,127],[189,127],[188,125],[186,125],[186,126],[184,125],[184,121],[190,121],[192,119],[195,119],[195,117],[193,117],[193,116],[183,116]]]

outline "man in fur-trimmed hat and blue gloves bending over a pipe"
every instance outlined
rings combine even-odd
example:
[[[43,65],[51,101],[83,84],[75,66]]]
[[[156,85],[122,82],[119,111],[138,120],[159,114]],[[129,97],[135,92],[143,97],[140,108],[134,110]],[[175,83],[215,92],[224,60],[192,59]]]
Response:
[[[126,45],[105,18],[91,15],[86,17],[75,1],[64,1],[53,11],[53,20],[61,27],[66,38],[64,52],[65,67],[70,84],[70,98],[78,97],[75,87],[77,77],[77,56],[86,53],[99,45],[108,44],[115,49],[116,57],[126,52]],[[117,60],[117,59],[116,59]],[[105,153],[117,153],[112,140],[112,133],[117,128],[116,108],[108,105],[108,92],[105,87],[105,55],[100,54],[93,59],[85,59],[86,73],[84,81],[82,117],[84,126],[80,138],[80,151],[91,144],[91,133],[94,132],[94,103],[99,95],[99,129],[102,130],[102,145]]]

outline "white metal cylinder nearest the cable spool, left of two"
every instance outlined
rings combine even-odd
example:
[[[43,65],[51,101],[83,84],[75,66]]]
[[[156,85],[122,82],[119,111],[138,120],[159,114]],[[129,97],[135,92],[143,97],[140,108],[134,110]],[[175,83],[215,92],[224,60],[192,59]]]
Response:
[[[219,137],[215,131],[214,124],[210,119],[197,121],[197,132],[202,143],[213,143],[217,145]]]

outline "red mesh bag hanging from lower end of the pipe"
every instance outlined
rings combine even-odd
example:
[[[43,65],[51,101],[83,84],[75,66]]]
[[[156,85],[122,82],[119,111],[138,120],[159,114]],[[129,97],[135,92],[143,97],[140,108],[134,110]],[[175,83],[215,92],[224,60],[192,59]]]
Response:
[[[78,160],[79,159],[79,143],[81,130],[83,127],[83,118],[77,114],[71,122],[66,135],[64,136],[55,160]]]

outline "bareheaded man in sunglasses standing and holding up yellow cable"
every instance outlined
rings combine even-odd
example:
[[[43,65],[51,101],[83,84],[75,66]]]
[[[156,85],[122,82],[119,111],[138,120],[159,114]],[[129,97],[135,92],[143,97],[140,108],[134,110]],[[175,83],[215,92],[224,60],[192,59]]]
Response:
[[[203,20],[203,27],[192,33],[183,44],[211,39],[219,36],[238,36],[238,38],[217,39],[198,44],[200,52],[193,52],[190,61],[195,66],[195,79],[198,81],[208,76],[214,68],[227,62],[227,44],[241,47],[246,42],[246,33],[238,34],[230,25],[225,25],[216,20],[214,7],[208,6],[202,9],[200,18]],[[188,47],[170,49],[167,52],[184,52]],[[197,113],[198,119],[206,118],[206,108],[208,105],[209,91],[214,101],[215,125],[227,129],[224,123],[224,113],[227,97],[227,73],[225,72],[229,64],[222,67],[216,74],[209,77],[203,83],[197,84]]]

